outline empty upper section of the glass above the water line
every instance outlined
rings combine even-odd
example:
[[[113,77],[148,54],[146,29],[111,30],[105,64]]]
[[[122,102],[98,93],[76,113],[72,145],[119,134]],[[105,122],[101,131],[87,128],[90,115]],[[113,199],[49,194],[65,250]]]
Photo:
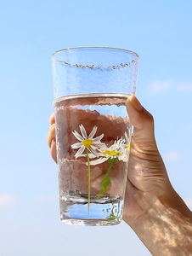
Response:
[[[126,49],[85,47],[53,55],[54,97],[87,93],[132,94],[138,55]]]

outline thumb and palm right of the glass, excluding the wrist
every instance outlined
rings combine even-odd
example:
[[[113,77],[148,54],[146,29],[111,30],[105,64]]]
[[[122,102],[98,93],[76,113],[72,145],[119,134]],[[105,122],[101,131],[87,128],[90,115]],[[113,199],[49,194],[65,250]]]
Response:
[[[155,143],[153,116],[135,96],[127,99],[127,113],[134,132],[123,218],[137,230],[139,218],[143,218],[157,198],[166,195],[172,185]]]

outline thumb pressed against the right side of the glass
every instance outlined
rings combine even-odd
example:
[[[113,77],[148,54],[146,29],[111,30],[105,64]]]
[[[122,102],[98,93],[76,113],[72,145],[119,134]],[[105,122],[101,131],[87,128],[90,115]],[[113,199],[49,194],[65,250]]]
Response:
[[[138,102],[136,96],[128,96],[127,113],[134,127],[133,139],[135,143],[155,146],[154,119],[153,116]]]

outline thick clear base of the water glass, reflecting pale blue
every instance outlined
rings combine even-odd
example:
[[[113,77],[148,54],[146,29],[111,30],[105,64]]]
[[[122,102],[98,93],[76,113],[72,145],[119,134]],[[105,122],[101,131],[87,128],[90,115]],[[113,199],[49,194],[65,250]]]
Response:
[[[65,224],[109,226],[121,223],[123,200],[121,196],[72,196],[71,200],[60,200],[60,218]]]

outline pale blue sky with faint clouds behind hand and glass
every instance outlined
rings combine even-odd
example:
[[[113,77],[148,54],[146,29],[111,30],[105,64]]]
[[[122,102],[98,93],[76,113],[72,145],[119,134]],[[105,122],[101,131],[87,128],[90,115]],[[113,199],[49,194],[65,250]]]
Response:
[[[150,255],[123,222],[59,221],[57,167],[46,143],[58,49],[111,46],[140,55],[137,96],[154,115],[172,185],[192,209],[191,10],[190,0],[1,3],[1,255]]]

